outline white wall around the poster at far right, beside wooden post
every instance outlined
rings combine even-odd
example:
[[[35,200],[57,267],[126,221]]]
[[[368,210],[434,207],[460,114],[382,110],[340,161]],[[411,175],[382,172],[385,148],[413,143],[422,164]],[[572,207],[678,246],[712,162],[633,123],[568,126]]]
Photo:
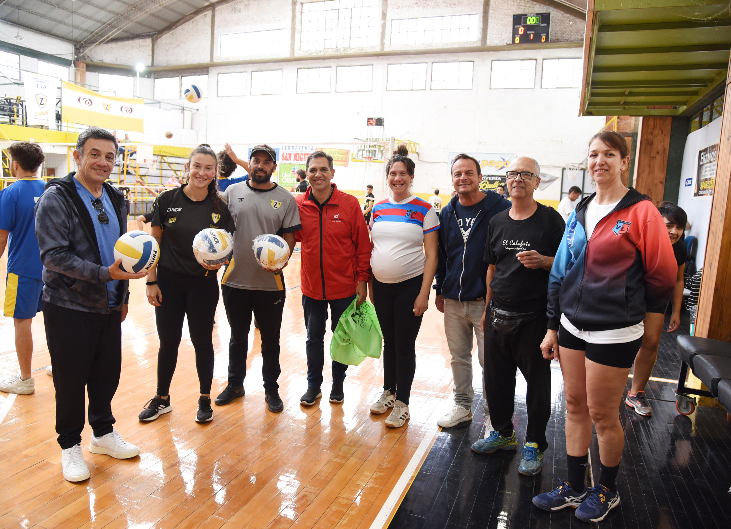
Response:
[[[705,259],[705,245],[708,242],[708,225],[711,223],[711,205],[713,197],[693,197],[694,177],[697,172],[698,150],[707,145],[719,142],[721,139],[721,120],[711,121],[702,129],[688,134],[685,151],[683,151],[683,167],[681,170],[681,189],[678,193],[678,205],[688,213],[691,229],[686,235],[695,235],[698,238],[698,253],[696,266],[703,266]],[[686,186],[690,179],[691,185]]]

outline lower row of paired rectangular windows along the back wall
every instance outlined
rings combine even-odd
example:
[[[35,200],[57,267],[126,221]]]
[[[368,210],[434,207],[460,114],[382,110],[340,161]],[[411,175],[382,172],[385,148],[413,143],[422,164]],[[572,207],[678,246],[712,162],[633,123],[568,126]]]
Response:
[[[535,88],[536,60],[492,61],[490,88]],[[386,90],[471,90],[474,62],[435,62],[431,64],[389,64]],[[583,74],[580,58],[543,60],[541,88],[577,88]],[[246,72],[219,74],[216,94],[219,97],[281,94],[282,70],[251,72],[251,91]],[[373,89],[373,65],[337,66],[334,73],[336,92],[368,92]],[[129,77],[132,80],[132,77]],[[297,70],[297,93],[330,93],[333,68],[300,68]],[[189,84],[200,87],[203,97],[208,96],[208,75],[189,77],[162,77],[155,80],[155,99],[179,99]],[[102,75],[99,75],[102,85]]]

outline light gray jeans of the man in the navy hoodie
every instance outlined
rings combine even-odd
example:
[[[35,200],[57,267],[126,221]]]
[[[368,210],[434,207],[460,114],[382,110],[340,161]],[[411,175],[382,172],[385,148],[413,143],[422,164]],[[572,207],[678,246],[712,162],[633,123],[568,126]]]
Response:
[[[485,333],[480,329],[480,319],[485,312],[485,300],[457,301],[444,299],[444,335],[452,354],[452,378],[455,383],[455,404],[472,407],[472,343],[473,331],[477,337],[477,358],[485,369]],[[485,377],[480,373],[482,395],[485,395]],[[488,416],[488,404],[482,406]]]

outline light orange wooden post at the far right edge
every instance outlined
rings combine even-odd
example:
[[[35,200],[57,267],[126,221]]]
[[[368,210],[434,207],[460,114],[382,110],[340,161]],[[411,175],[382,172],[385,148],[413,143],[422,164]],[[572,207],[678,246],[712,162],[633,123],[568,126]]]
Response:
[[[724,106],[731,102],[731,70],[726,77],[724,101]],[[731,112],[727,108],[724,108],[721,119],[716,186],[713,189],[695,335],[731,341]]]

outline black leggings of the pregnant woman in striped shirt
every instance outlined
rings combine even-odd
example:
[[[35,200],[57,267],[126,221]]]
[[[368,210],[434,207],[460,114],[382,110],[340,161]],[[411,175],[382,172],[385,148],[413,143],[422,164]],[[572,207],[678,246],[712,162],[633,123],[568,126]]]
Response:
[[[407,405],[416,371],[414,343],[423,318],[414,316],[414,301],[423,280],[423,274],[400,283],[373,278],[373,302],[383,332],[383,390]]]

